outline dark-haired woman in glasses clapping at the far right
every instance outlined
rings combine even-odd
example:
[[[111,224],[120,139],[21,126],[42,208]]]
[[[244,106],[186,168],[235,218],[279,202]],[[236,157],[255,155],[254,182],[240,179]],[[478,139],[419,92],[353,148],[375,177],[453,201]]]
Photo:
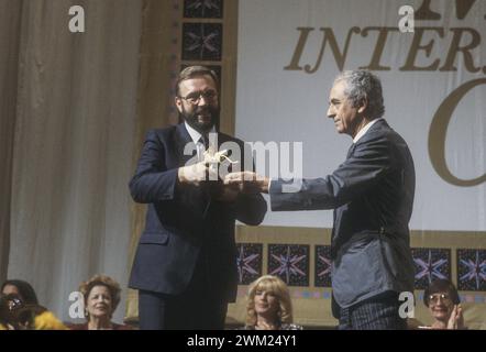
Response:
[[[423,302],[434,319],[430,327],[421,329],[466,329],[457,289],[448,279],[437,279],[423,293]]]

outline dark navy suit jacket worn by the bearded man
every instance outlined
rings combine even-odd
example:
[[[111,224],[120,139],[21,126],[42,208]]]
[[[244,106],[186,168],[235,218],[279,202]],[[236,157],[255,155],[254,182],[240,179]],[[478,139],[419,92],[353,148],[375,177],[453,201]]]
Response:
[[[244,151],[241,140],[218,133],[219,144],[229,141]],[[235,219],[252,226],[261,223],[266,202],[261,195],[240,195],[235,202],[220,202],[205,186],[180,187],[177,169],[192,158],[184,155],[186,144],[191,142],[184,123],[152,130],[146,135],[130,182],[133,199],[148,204],[148,209],[129,286],[180,294],[205,251],[211,279],[208,290],[214,298],[231,301],[238,289]]]

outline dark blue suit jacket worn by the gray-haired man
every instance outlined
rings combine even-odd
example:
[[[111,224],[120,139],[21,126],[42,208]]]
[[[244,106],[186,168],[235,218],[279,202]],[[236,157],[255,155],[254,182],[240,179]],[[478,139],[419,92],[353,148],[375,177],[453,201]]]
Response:
[[[270,184],[273,210],[335,209],[332,288],[341,307],[383,292],[413,292],[408,222],[415,167],[404,139],[377,121],[351,146],[346,161],[324,178],[303,179],[297,193]]]

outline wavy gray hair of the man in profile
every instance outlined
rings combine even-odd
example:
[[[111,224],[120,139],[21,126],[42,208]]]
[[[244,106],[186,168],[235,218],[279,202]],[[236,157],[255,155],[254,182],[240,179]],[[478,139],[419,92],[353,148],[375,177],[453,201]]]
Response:
[[[344,80],[346,88],[344,94],[354,108],[357,108],[363,100],[367,101],[366,117],[378,119],[385,114],[383,103],[382,81],[368,70],[356,69],[345,70],[338,75],[334,84]]]

